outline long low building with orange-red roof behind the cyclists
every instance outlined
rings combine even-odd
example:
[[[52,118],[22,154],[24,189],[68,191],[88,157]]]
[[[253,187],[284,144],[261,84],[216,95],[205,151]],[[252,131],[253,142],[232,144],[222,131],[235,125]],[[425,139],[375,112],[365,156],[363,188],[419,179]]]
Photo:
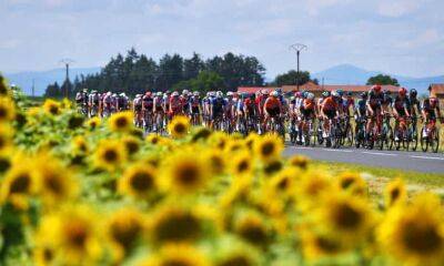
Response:
[[[307,91],[314,93],[315,96],[321,96],[323,91],[334,91],[342,89],[343,91],[346,92],[352,92],[353,96],[357,98],[362,92],[367,92],[370,91],[372,86],[371,85],[316,85],[313,82],[307,82],[303,85],[299,86],[300,91]],[[240,86],[238,89],[238,92],[244,92],[244,93],[255,93],[259,90],[275,90],[276,88],[274,86]],[[387,90],[392,92],[392,94],[397,93],[400,86],[394,86],[394,85],[383,85],[383,90]],[[282,91],[290,93],[290,92],[296,92],[297,86],[296,85],[283,85]]]

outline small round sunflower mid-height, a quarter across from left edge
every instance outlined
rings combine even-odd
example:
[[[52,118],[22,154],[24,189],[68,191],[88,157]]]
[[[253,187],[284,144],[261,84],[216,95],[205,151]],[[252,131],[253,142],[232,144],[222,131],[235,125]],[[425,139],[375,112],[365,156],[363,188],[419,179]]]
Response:
[[[117,141],[102,141],[94,156],[97,167],[113,171],[125,161],[125,151]]]

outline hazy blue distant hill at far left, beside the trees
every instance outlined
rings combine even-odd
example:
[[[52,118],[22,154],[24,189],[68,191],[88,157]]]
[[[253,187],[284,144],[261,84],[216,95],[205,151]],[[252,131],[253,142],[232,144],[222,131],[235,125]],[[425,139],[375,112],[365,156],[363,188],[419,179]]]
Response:
[[[70,79],[74,80],[77,75],[88,75],[100,72],[100,68],[79,68],[70,69]],[[29,71],[19,73],[4,73],[11,84],[20,86],[26,94],[31,95],[32,80],[36,82],[36,95],[42,95],[48,84],[54,83],[62,84],[64,81],[65,70],[54,69],[49,71]]]

